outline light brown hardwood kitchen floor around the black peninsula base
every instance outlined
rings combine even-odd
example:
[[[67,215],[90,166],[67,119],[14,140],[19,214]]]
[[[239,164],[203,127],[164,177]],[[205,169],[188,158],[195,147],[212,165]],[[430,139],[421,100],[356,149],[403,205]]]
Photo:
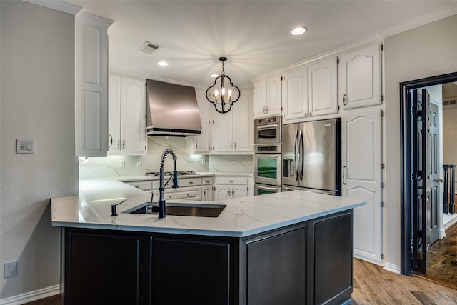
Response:
[[[457,290],[418,276],[394,274],[382,266],[355,259],[352,298],[351,305],[447,305],[457,304]],[[51,296],[26,305],[61,305],[61,301],[60,296]]]

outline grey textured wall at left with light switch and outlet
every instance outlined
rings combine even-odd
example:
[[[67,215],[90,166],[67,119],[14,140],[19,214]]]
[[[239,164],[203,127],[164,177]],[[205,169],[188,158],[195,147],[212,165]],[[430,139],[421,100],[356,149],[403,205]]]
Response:
[[[0,299],[59,284],[49,199],[75,194],[74,16],[0,1]],[[16,154],[34,139],[35,154]],[[4,263],[18,261],[3,278]]]

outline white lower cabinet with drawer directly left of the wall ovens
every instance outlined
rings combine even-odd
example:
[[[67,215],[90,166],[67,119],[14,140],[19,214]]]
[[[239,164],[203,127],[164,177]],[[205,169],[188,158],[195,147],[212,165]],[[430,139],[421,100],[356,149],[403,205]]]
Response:
[[[216,176],[215,200],[236,199],[248,196],[247,176]]]

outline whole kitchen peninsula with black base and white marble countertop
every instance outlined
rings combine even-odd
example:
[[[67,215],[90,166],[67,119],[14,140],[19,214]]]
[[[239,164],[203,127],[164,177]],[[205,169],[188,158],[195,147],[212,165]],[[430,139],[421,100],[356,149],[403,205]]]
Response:
[[[79,196],[51,199],[64,232],[65,304],[351,299],[353,209],[364,201],[287,191],[213,202],[226,204],[218,217],[124,213],[150,197],[97,179],[80,181]]]

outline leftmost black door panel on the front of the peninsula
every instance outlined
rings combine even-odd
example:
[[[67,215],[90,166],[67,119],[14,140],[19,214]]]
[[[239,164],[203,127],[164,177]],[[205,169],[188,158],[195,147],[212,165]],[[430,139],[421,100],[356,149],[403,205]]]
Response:
[[[66,229],[65,304],[141,304],[142,243],[131,234]]]

